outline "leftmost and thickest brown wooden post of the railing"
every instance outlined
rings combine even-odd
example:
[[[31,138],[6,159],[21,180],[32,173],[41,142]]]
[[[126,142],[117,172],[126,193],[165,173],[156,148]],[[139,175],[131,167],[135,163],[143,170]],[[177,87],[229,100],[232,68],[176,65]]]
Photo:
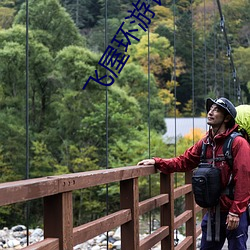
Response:
[[[73,249],[72,192],[44,198],[44,238],[59,238],[60,250]]]

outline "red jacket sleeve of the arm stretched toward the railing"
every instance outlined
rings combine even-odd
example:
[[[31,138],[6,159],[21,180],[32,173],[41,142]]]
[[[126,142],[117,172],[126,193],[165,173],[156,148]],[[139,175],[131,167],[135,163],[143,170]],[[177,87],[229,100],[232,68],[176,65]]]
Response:
[[[165,174],[190,171],[200,163],[201,147],[202,140],[198,141],[178,157],[170,159],[154,157],[155,166]]]

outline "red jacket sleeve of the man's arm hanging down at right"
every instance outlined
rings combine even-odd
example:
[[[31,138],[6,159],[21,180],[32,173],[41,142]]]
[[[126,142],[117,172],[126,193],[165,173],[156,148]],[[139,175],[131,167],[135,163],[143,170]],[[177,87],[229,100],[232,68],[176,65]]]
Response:
[[[250,201],[250,145],[238,136],[233,141],[234,201],[230,212],[242,214]]]

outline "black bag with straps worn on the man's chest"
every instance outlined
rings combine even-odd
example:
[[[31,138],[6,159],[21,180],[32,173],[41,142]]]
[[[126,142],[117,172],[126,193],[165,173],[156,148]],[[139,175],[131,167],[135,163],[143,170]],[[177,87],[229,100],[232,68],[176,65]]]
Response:
[[[232,143],[241,133],[231,133],[223,145],[224,157],[217,157],[215,161],[226,160],[230,169],[233,167]],[[201,162],[198,168],[193,172],[192,187],[195,202],[203,208],[215,207],[219,203],[220,196],[223,191],[221,188],[221,170],[214,167],[212,163],[206,162],[207,144],[202,144]],[[226,188],[227,195],[233,199],[233,186],[230,182]]]

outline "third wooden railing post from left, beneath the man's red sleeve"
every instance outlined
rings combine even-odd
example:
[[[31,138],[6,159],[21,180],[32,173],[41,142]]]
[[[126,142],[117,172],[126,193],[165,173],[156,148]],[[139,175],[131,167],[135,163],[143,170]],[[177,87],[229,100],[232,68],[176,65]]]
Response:
[[[169,203],[161,206],[161,226],[169,227],[169,235],[161,241],[162,250],[174,249],[174,178],[173,174],[160,174],[160,192],[169,194]]]

